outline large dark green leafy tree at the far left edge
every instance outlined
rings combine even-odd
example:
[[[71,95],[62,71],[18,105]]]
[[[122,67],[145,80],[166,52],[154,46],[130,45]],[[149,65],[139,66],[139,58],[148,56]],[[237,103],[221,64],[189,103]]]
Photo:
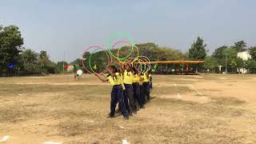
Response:
[[[8,71],[8,64],[18,62],[23,38],[18,26],[0,26],[0,74]]]

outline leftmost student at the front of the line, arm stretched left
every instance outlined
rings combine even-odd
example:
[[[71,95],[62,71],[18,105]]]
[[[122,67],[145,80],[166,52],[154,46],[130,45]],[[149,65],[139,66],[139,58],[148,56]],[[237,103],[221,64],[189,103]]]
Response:
[[[114,118],[114,112],[115,112],[115,106],[118,103],[119,110],[121,110],[121,113],[123,117],[128,120],[129,116],[126,112],[126,106],[124,103],[124,96],[123,96],[123,90],[122,90],[122,77],[121,74],[118,73],[118,70],[115,66],[109,66],[108,71],[110,74],[104,78],[99,77],[98,74],[95,74],[102,82],[110,82],[110,84],[113,86],[111,91],[111,102],[110,102],[110,115],[109,118]]]

